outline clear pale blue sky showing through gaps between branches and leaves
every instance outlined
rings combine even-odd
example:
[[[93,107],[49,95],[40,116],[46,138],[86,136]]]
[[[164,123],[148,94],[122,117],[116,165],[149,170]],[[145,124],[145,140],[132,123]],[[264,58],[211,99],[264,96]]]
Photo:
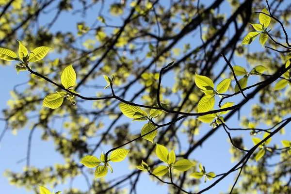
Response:
[[[108,10],[109,10],[108,4],[110,4],[110,2],[112,2],[112,0],[109,0],[109,2],[106,1],[105,3],[106,6],[103,12],[104,15],[108,14]],[[74,4],[74,5],[75,7],[78,7],[78,4]],[[54,6],[55,5],[51,5],[50,8]],[[95,19],[97,18],[96,8],[98,8],[98,5],[92,9],[89,9],[87,12],[87,16],[84,18],[82,18],[80,14],[71,15],[65,12],[62,13],[60,16],[60,19],[57,20],[55,25],[51,28],[50,32],[72,31],[73,33],[76,34],[77,33],[76,23],[81,22],[81,21],[89,21],[88,24],[91,24],[95,21]],[[230,8],[228,6],[227,1],[224,2],[222,10],[228,13],[227,16],[230,14]],[[54,15],[53,13],[54,12],[51,13],[52,16]],[[127,15],[128,13],[125,13],[123,17]],[[49,21],[48,18],[49,18],[48,15],[41,15],[40,20],[39,20],[40,25],[47,23]],[[120,18],[112,17],[112,21],[110,21],[110,24],[116,25],[119,23],[119,21],[120,21]],[[195,31],[195,33],[191,34],[191,35],[194,35],[193,40],[189,42],[192,48],[196,46],[197,42],[200,44],[199,34],[197,33],[198,32]],[[80,40],[79,46],[81,46],[82,41],[83,40]],[[182,49],[183,44],[188,43],[188,41],[189,41],[189,38],[181,40],[175,48]],[[250,52],[262,50],[262,47],[259,44],[259,40],[255,40],[252,43],[252,47],[248,47],[248,49]],[[53,58],[54,55],[49,54],[49,57]],[[243,58],[235,57],[235,62],[236,62],[236,65],[241,65],[244,67],[247,65],[246,61]],[[220,60],[215,70],[219,71],[220,68],[224,65],[225,65],[225,62],[223,60]],[[247,70],[251,70],[251,68]],[[13,89],[14,85],[27,81],[29,76],[30,74],[28,72],[20,72],[19,75],[17,75],[14,65],[0,67],[0,81],[2,83],[5,83],[5,84],[2,84],[2,87],[1,87],[1,95],[0,95],[0,108],[1,109],[7,107],[6,102],[7,100],[10,99],[9,91]],[[78,77],[78,73],[77,73],[77,77]],[[104,85],[106,85],[103,78],[100,78],[99,80],[100,80],[100,83],[103,83]],[[250,85],[256,81],[258,81],[257,78],[251,78],[248,84]],[[162,84],[164,86],[165,85],[171,86],[173,83],[174,83],[173,75],[168,74],[163,77]],[[217,85],[217,83],[215,85]],[[234,82],[232,82],[232,84],[234,85]],[[19,87],[20,90],[21,90],[21,87],[25,88],[25,85],[20,86]],[[85,88],[81,88],[80,92],[84,96],[94,96],[96,94],[96,91],[87,90]],[[99,92],[103,92],[103,90],[100,90]],[[129,99],[129,97],[130,97],[130,94],[128,94],[127,99]],[[235,97],[235,99],[232,99],[232,101],[239,102],[241,99],[242,97],[238,96],[238,97]],[[216,98],[216,100],[219,101],[219,98]],[[241,109],[241,116],[249,116],[251,105],[254,103],[258,103],[258,99],[255,98],[255,99],[250,100],[244,106],[244,108]],[[84,104],[85,106],[87,106],[86,108],[91,108],[91,105],[92,105],[91,103],[84,103]],[[126,118],[125,116],[123,116],[119,123],[122,123],[122,122],[130,122],[130,121],[129,121],[129,118]],[[230,127],[238,127],[238,123],[239,121],[237,119],[237,114],[235,114],[234,116],[232,116],[231,119],[227,121],[226,124]],[[5,124],[4,122],[0,122],[0,130],[4,128],[4,124]],[[138,132],[143,127],[143,125],[144,123],[141,123],[141,122],[132,123],[130,124],[131,126],[130,129],[132,131]],[[26,157],[28,135],[30,132],[29,126],[30,124],[25,129],[18,130],[17,135],[13,135],[10,130],[7,131],[3,140],[0,143],[0,146],[1,146],[0,158],[2,159],[0,162],[0,187],[1,187],[1,192],[3,193],[32,194],[32,192],[25,191],[23,188],[16,188],[12,185],[9,185],[7,178],[4,178],[2,176],[5,169],[11,169],[12,171],[21,172],[23,167],[25,167],[26,162],[17,163],[17,161],[24,159]],[[61,121],[56,122],[54,127],[56,129],[60,129]],[[263,128],[265,126],[260,126],[260,127]],[[104,129],[106,129],[106,126]],[[200,128],[199,135],[196,136],[196,140],[200,139],[210,129],[211,128],[207,124],[203,125]],[[244,142],[247,148],[250,148],[251,146],[253,146],[248,132],[240,131],[240,132],[232,133],[233,137],[236,135],[243,135],[245,137]],[[31,164],[42,168],[42,167],[54,164],[56,162],[64,163],[64,159],[62,158],[62,156],[55,152],[54,150],[55,146],[53,145],[53,142],[52,141],[44,142],[41,140],[40,137],[41,137],[41,130],[37,129],[34,132],[33,137],[32,137]],[[181,140],[187,140],[187,137],[185,136],[185,134],[180,133],[180,137],[181,137]],[[282,137],[281,135],[276,135],[273,138],[272,143],[273,142],[278,143],[280,139],[288,139],[288,138],[290,139],[290,132],[287,132],[285,134],[285,137]],[[206,167],[207,171],[214,171],[216,174],[227,172],[232,166],[235,165],[235,163],[231,163],[230,161],[230,156],[231,156],[229,153],[230,144],[228,143],[227,139],[228,137],[225,131],[223,130],[223,128],[220,128],[214,135],[212,135],[207,141],[205,141],[205,143],[201,147],[198,147],[191,154],[190,158],[198,160],[199,162],[202,162],[202,164]],[[97,138],[95,140],[97,141]],[[110,148],[111,147],[109,146],[102,146],[102,150],[101,149],[97,150],[96,156],[99,157],[101,151],[107,151]],[[188,145],[186,144],[182,146],[182,150],[184,151],[187,148],[188,148]],[[178,151],[176,151],[176,153],[178,153]],[[108,173],[108,175],[106,176],[106,179],[120,177],[124,174],[129,173],[129,169],[128,169],[129,164],[127,161],[114,163],[112,166],[113,166],[114,173],[113,174]],[[232,173],[231,175],[227,176],[223,181],[217,184],[217,186],[214,189],[208,192],[205,192],[205,194],[226,192],[229,188],[229,185],[233,184],[235,175],[236,173]],[[90,178],[93,179],[93,177],[90,177]],[[202,182],[199,186],[199,190],[209,186],[211,183],[212,181],[208,181],[207,183]],[[44,185],[44,186],[49,187],[49,185]],[[54,189],[55,191],[59,191],[59,190],[64,190],[65,188],[68,188],[68,187],[69,187],[69,180],[67,181],[67,183],[59,185]],[[73,187],[79,188],[81,190],[86,190],[87,185],[84,178],[82,176],[75,178],[73,181]],[[125,187],[125,188],[129,189],[129,187]],[[52,188],[50,189],[52,190]],[[166,185],[161,186],[161,185],[158,185],[156,182],[150,181],[150,177],[148,176],[148,174],[142,173],[140,181],[137,185],[137,193],[138,194],[148,194],[148,193],[166,194],[167,186]]]

